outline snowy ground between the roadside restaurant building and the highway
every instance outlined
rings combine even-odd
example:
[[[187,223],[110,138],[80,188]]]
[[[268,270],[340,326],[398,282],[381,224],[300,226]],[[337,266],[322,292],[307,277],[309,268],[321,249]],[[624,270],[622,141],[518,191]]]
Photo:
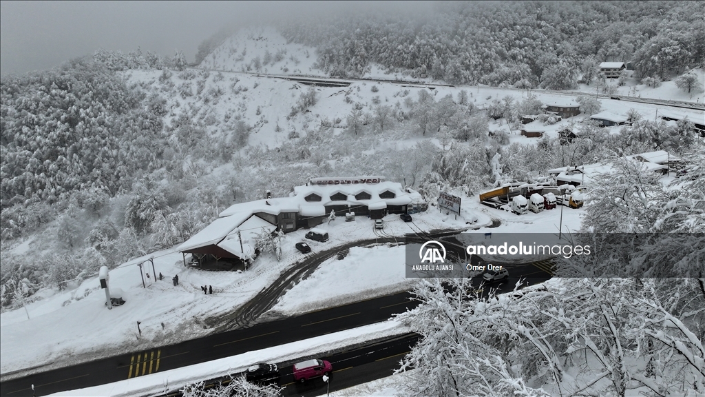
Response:
[[[454,220],[452,216],[446,218],[429,210],[428,213],[415,215],[414,220],[418,227],[427,231],[453,228],[462,230],[474,225],[491,224],[491,219],[486,215],[479,216],[474,225],[467,225],[464,220]],[[402,222],[398,216],[388,215],[385,220],[385,232],[388,235],[401,240],[405,233],[413,232],[410,225]],[[363,217],[351,223],[338,219],[321,227],[331,232],[331,239],[326,243],[310,242],[314,251],[375,236],[372,220]],[[294,248],[295,242],[303,240],[304,234],[304,230],[298,230],[283,238],[281,261],[271,256],[262,256],[246,272],[184,268],[180,253],[173,249],[156,252],[153,254],[154,271],[157,275],[162,273],[164,280],[155,281],[153,275],[145,278],[147,288],[142,286],[140,268],[135,264],[137,261],[130,261],[110,273],[111,288],[121,288],[126,301],[123,306],[112,310],[105,309],[104,292],[100,290],[98,280],[93,278],[85,280],[73,290],[56,292],[43,300],[27,304],[30,319],[27,319],[24,309],[5,312],[0,315],[2,380],[205,336],[212,332],[206,325],[207,319],[233,312],[271,285],[282,271],[304,258]],[[355,257],[355,251],[352,250],[351,258]],[[403,273],[385,266],[388,256],[379,258],[379,252],[374,251],[374,254],[364,259],[367,266],[372,266],[367,268],[367,272],[345,277],[333,272],[326,277],[341,280],[355,277],[355,288],[359,288],[358,291],[350,288],[326,288],[330,300],[319,300],[317,303],[311,303],[305,293],[287,294],[286,310],[301,313],[313,310],[314,307],[319,309],[326,305],[353,302],[361,299],[362,295],[365,297],[362,299],[366,299],[405,289]],[[403,251],[398,252],[403,263]],[[143,259],[148,258],[145,256]],[[152,273],[151,267],[147,262],[143,271]],[[323,265],[322,268],[329,266]],[[348,271],[353,271],[353,268],[351,266]],[[178,286],[171,282],[176,274],[179,276]],[[314,279],[317,278],[315,274]],[[202,285],[213,285],[214,294],[204,295],[200,289]],[[137,321],[141,321],[141,336],[135,325]]]

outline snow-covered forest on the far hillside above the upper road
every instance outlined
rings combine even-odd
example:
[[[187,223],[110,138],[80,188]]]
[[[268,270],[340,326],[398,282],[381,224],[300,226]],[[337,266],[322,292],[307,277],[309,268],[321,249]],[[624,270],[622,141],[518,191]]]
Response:
[[[283,32],[317,47],[318,66],[334,76],[362,76],[375,62],[448,83],[565,89],[600,61],[632,61],[639,78],[662,80],[701,66],[702,12],[697,1],[447,2],[416,19],[369,13]]]

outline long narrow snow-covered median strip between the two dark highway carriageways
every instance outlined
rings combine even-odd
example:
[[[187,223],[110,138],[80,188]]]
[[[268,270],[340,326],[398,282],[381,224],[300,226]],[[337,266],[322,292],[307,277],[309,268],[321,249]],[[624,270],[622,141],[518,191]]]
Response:
[[[253,350],[241,355],[221,358],[220,360],[143,375],[133,379],[125,379],[112,384],[62,391],[51,394],[51,396],[152,396],[166,391],[178,390],[187,384],[203,379],[213,379],[236,372],[243,372],[256,362],[281,363],[292,360],[304,360],[307,357],[320,357],[336,349],[364,343],[368,340],[402,335],[407,332],[409,332],[407,326],[403,326],[396,321],[384,321],[316,338],[299,340],[286,345]]]

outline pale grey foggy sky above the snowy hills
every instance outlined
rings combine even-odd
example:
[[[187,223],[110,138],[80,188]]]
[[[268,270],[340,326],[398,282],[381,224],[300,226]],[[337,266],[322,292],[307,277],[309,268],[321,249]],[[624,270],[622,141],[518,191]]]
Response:
[[[297,18],[303,13],[358,8],[430,8],[430,2],[362,1],[0,1],[2,75],[50,69],[96,49],[157,52],[183,50],[195,59],[198,45],[225,25]]]

